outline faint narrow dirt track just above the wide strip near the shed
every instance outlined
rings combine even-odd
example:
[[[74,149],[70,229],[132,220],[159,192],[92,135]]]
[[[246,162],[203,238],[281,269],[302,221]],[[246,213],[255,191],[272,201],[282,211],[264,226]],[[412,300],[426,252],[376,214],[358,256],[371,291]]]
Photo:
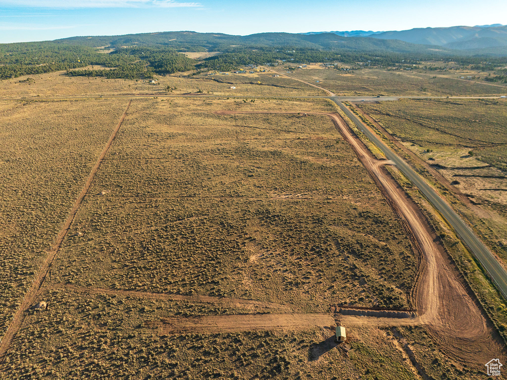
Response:
[[[271,308],[277,309],[278,311],[290,312],[292,309],[290,306],[282,305],[274,302],[263,302],[263,301],[252,301],[243,298],[228,298],[228,297],[212,297],[204,295],[193,295],[184,296],[180,294],[164,294],[164,293],[150,293],[150,292],[137,292],[132,290],[115,290],[115,289],[104,289],[104,288],[84,288],[69,284],[56,284],[51,288],[66,288],[71,291],[78,293],[88,294],[109,294],[123,297],[132,298],[146,298],[146,299],[159,299],[159,300],[173,300],[173,301],[188,301],[188,302],[202,302],[202,303],[214,303],[222,304],[227,307],[244,307],[249,309],[254,308]]]

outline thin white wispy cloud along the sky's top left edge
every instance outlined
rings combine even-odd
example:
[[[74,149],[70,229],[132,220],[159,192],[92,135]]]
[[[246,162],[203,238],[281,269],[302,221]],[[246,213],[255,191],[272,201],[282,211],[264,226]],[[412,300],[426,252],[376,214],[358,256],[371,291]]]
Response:
[[[0,0],[0,7],[30,8],[198,8],[200,3],[180,3],[173,0]]]

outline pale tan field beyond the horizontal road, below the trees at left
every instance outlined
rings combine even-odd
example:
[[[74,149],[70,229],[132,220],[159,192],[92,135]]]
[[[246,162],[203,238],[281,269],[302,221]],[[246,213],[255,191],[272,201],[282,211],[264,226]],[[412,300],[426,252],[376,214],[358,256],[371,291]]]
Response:
[[[23,82],[31,78],[30,81]],[[230,74],[193,77],[157,76],[149,80],[68,77],[64,72],[24,76],[2,81],[2,98],[37,98],[51,96],[108,95],[182,95],[189,93],[221,96],[325,95],[325,92],[288,78],[274,78],[270,73]],[[261,82],[259,84],[258,82]],[[236,87],[231,89],[230,87]]]

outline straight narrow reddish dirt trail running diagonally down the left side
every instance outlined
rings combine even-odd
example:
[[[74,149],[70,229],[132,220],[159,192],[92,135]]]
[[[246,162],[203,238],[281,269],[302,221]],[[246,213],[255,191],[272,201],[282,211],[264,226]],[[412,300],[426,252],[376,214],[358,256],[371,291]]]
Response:
[[[4,335],[4,338],[2,339],[2,342],[0,343],[0,358],[3,357],[4,353],[9,348],[9,344],[16,335],[16,332],[19,330],[19,327],[21,326],[21,323],[23,321],[23,317],[25,315],[26,310],[33,304],[35,299],[37,298],[37,295],[39,294],[39,291],[42,287],[42,284],[46,280],[46,276],[51,269],[51,265],[53,264],[53,260],[58,254],[58,251],[63,243],[63,239],[67,235],[68,230],[70,229],[70,225],[74,221],[74,218],[76,217],[76,214],[78,212],[79,206],[83,202],[83,199],[85,198],[88,190],[90,189],[90,186],[92,184],[93,179],[95,178],[95,175],[97,174],[97,171],[100,167],[100,164],[104,160],[104,157],[107,153],[107,150],[111,147],[111,144],[113,143],[113,140],[115,140],[116,134],[118,133],[118,130],[120,129],[123,120],[125,120],[125,117],[127,116],[127,111],[130,107],[130,103],[132,100],[128,102],[127,108],[125,109],[125,112],[123,113],[122,117],[120,118],[120,121],[118,122],[118,125],[113,130],[113,133],[111,134],[111,137],[107,141],[104,149],[102,150],[102,153],[100,154],[97,162],[95,163],[95,166],[90,171],[90,175],[88,176],[88,179],[85,182],[85,185],[83,187],[83,190],[79,194],[78,198],[76,199],[76,202],[74,203],[73,208],[70,210],[70,213],[67,217],[67,220],[65,221],[65,224],[63,225],[62,229],[56,236],[56,240],[53,243],[53,246],[51,247],[51,250],[48,252],[48,255],[46,256],[46,259],[44,260],[44,263],[42,264],[42,267],[37,274],[37,277],[35,277],[35,280],[33,281],[33,284],[31,285],[30,289],[26,292],[23,301],[21,302],[21,305],[16,311],[16,314],[14,315],[14,319],[12,320],[11,324],[7,328],[7,331]]]

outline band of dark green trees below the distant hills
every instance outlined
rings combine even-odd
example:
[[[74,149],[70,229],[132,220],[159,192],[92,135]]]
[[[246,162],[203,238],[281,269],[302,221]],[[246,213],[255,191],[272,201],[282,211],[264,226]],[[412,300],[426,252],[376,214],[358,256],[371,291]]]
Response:
[[[148,37],[147,37],[148,38]],[[196,44],[202,43],[204,36],[192,34]],[[121,43],[130,40],[124,37]],[[91,41],[91,40],[90,40]],[[266,40],[268,41],[268,40]],[[119,43],[120,41],[117,41]],[[187,41],[188,42],[188,41]],[[269,41],[268,41],[269,42]],[[268,43],[266,42],[266,44]],[[262,65],[285,61],[287,63],[341,62],[361,67],[402,67],[419,66],[423,61],[468,66],[478,70],[494,70],[507,64],[502,57],[439,57],[432,54],[399,53],[390,51],[358,51],[350,48],[324,49],[302,47],[287,39],[287,45],[271,46],[262,44],[262,39],[252,41],[251,46],[234,47],[220,41],[221,53],[201,62],[187,57],[173,47],[164,45],[138,44],[131,47],[117,46],[111,53],[100,53],[93,46],[73,45],[71,40],[47,41],[37,43],[0,44],[0,79],[16,78],[22,75],[43,74],[65,71],[69,76],[98,76],[104,78],[142,79],[153,78],[155,74],[173,74],[197,70],[234,71],[253,64]],[[182,49],[190,48],[190,46]],[[196,46],[194,46],[195,48]],[[202,50],[202,46],[198,46]],[[97,65],[112,68],[84,68]],[[77,70],[76,70],[77,69]],[[505,81],[505,73],[490,77],[491,81]]]

